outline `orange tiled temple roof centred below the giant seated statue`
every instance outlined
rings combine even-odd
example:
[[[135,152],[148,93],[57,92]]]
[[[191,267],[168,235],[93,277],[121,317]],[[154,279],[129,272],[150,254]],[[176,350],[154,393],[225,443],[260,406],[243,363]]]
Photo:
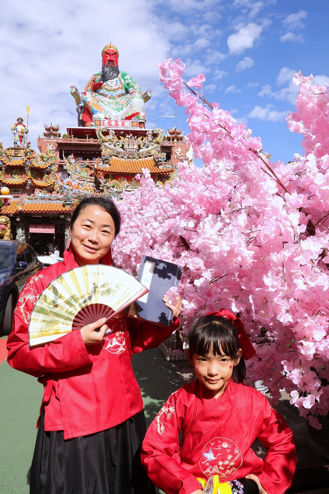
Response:
[[[167,175],[172,171],[171,168],[160,168],[154,158],[145,158],[144,160],[123,160],[120,158],[111,158],[110,165],[98,165],[97,169],[110,173],[143,173],[142,168],[148,168],[150,173],[159,173]]]

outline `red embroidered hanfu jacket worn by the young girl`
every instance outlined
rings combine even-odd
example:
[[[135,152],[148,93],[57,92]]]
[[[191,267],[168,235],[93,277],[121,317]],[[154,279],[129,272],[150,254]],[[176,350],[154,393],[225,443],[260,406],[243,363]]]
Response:
[[[264,461],[251,449],[256,438],[269,448]],[[197,478],[219,475],[227,482],[249,473],[267,494],[283,494],[292,483],[296,452],[292,431],[256,389],[228,381],[216,400],[197,379],[173,393],[149,426],[142,463],[167,494],[197,491]]]

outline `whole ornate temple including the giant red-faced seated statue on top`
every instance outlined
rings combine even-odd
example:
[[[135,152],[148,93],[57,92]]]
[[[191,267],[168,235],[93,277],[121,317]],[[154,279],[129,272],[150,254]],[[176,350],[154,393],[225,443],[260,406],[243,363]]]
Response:
[[[0,238],[13,235],[33,247],[38,240],[41,248],[55,241],[62,253],[69,239],[68,217],[81,197],[120,198],[123,190],[139,187],[136,175],[146,168],[156,186],[164,187],[177,176],[179,162],[192,160],[181,129],[164,134],[160,128],[145,128],[151,91],[143,93],[119,70],[118,57],[113,44],[105,46],[102,71],[81,94],[71,87],[77,126],[61,135],[59,125],[45,124],[37,153],[20,117],[12,126],[13,146],[3,149],[0,143],[0,186],[13,196],[1,208]]]

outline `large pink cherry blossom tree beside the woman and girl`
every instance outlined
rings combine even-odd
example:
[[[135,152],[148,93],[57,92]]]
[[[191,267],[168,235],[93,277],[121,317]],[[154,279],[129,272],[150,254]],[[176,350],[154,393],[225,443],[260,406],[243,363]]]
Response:
[[[144,170],[140,189],[118,202],[123,225],[114,260],[138,271],[143,254],[183,267],[182,323],[225,308],[238,313],[256,346],[248,378],[280,390],[321,428],[329,411],[328,88],[297,74],[296,111],[304,156],[271,163],[259,137],[204,98],[199,74],[185,83],[180,59],[160,79],[185,107],[188,144],[204,167],[183,162],[164,189]],[[174,296],[174,293],[173,293]]]

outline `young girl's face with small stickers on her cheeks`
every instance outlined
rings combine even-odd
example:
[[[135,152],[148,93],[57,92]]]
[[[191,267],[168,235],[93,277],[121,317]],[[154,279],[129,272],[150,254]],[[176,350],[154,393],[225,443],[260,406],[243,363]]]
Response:
[[[233,367],[238,365],[241,352],[235,361],[226,355],[190,355],[186,349],[188,360],[194,367],[197,378],[209,389],[215,398],[218,398],[225,390],[226,382],[232,376]],[[223,352],[221,352],[223,353]]]

